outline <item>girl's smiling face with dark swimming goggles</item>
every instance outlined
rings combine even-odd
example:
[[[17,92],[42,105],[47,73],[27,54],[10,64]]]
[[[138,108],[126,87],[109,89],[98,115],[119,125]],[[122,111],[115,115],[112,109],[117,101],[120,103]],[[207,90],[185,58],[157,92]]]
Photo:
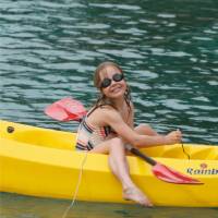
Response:
[[[106,69],[100,72],[100,81],[101,92],[108,98],[114,99],[124,96],[126,83],[119,69],[110,65],[106,66]]]

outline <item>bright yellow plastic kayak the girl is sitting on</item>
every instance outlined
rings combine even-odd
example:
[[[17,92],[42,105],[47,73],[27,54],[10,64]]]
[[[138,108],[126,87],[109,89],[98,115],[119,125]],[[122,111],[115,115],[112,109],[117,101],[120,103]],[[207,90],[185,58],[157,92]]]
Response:
[[[78,153],[75,133],[0,121],[0,191],[88,202],[128,203],[110,172],[107,155]],[[173,184],[158,180],[150,166],[129,156],[134,182],[156,206],[217,207],[218,147],[185,144],[142,152],[204,184]]]

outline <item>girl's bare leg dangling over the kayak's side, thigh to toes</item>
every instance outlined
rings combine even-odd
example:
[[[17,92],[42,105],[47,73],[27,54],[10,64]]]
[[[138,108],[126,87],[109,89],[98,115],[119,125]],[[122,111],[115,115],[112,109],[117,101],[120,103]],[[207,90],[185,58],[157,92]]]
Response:
[[[96,146],[92,153],[109,153],[109,166],[113,174],[119,179],[123,189],[123,197],[134,201],[144,206],[153,206],[144,193],[136,187],[130,178],[129,165],[125,157],[123,142],[118,138],[111,138]]]

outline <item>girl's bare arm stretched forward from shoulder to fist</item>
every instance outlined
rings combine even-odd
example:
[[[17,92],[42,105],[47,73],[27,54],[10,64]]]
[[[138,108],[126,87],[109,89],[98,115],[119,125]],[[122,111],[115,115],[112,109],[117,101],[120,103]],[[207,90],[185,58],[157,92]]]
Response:
[[[182,135],[180,131],[173,131],[167,135],[140,135],[123,121],[120,113],[114,109],[105,109],[102,113],[105,122],[107,122],[120,137],[133,146],[156,146],[181,142]]]

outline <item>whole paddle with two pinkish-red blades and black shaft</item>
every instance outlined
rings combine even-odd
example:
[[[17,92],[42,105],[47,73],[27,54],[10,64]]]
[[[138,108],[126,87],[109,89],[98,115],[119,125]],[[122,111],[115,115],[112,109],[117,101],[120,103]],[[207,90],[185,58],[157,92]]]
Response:
[[[59,121],[80,121],[86,114],[82,102],[71,97],[53,102],[45,109],[45,113]],[[141,153],[137,148],[130,146],[129,150],[152,166],[153,173],[160,180],[175,184],[203,184],[201,181],[182,174],[153,158]]]

